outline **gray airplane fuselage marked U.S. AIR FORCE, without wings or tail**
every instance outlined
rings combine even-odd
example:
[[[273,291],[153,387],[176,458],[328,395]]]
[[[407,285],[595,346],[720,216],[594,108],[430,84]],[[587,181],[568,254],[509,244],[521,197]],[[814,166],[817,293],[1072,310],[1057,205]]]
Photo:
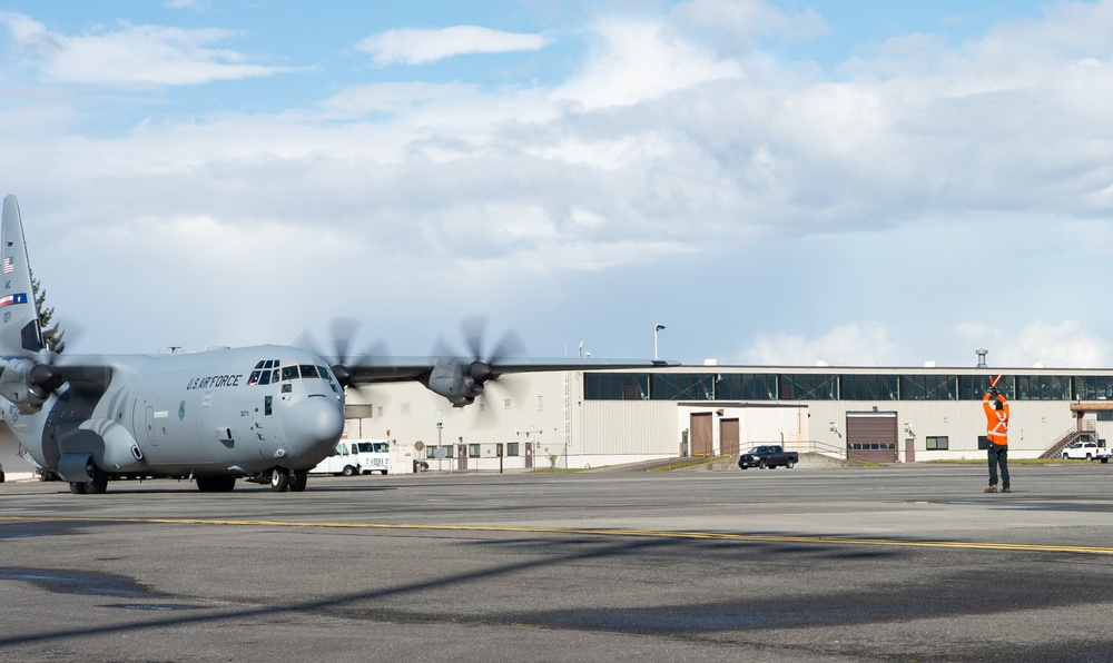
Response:
[[[4,408],[43,467],[91,454],[118,476],[302,471],[327,456],[344,428],[343,388],[323,359],[294,347],[59,355],[56,365],[71,377],[39,412]]]

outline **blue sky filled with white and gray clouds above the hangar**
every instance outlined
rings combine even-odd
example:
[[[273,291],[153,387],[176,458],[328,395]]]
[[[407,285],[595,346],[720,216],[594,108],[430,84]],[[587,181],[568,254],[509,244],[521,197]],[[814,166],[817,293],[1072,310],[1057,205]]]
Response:
[[[1113,1],[0,0],[82,352],[1113,365]],[[1081,287],[1080,287],[1081,286]]]

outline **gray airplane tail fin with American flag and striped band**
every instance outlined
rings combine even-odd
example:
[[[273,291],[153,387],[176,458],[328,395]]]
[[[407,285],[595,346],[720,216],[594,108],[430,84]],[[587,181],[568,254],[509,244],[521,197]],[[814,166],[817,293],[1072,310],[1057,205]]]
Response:
[[[31,266],[27,260],[23,222],[14,196],[3,199],[0,221],[0,355],[27,355],[43,348],[39,308],[31,286]]]

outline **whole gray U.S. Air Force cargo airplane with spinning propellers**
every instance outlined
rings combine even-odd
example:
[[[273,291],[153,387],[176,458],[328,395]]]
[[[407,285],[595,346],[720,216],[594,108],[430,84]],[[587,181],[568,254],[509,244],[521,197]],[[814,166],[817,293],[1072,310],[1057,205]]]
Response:
[[[232,491],[237,478],[269,483],[275,492],[304,491],[309,468],[341,438],[348,385],[417,380],[463,407],[503,374],[668,364],[479,353],[324,357],[276,345],[169,355],[55,353],[43,342],[14,196],[3,200],[0,243],[3,419],[31,458],[76,494],[104,493],[109,479],[156,477],[190,478],[203,492]]]

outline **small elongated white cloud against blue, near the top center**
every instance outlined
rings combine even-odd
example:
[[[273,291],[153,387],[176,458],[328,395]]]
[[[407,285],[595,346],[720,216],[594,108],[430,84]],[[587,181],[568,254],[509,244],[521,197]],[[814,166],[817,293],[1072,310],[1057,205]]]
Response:
[[[446,58],[474,53],[535,51],[549,44],[545,34],[504,32],[479,26],[417,29],[398,28],[372,34],[356,48],[378,66],[429,65]]]

